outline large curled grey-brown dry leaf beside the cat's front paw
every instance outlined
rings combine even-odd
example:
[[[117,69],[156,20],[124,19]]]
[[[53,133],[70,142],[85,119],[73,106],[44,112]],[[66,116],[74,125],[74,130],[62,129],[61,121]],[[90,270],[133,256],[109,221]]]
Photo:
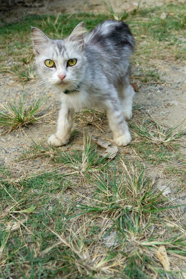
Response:
[[[117,153],[118,153],[118,148],[117,148],[117,146],[111,146],[111,142],[110,142],[110,141],[104,140],[104,139],[99,138],[99,137],[97,137],[97,136],[94,136],[94,135],[92,135],[92,134],[90,134],[90,133],[88,133],[88,136],[90,136],[91,139],[92,139],[95,143],[97,143],[97,144],[100,145],[101,147],[106,148],[105,152],[100,154],[102,157],[105,157],[106,155],[109,154],[108,158],[109,158],[109,159],[113,159],[113,158],[117,155]]]

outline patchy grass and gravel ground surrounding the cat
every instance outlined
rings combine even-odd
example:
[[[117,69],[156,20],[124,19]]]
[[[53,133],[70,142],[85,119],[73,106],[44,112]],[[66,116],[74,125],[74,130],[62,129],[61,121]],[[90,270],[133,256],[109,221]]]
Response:
[[[1,112],[14,100],[18,108],[23,87],[24,113],[43,103],[33,124],[11,130],[0,116],[2,278],[186,278],[186,5],[121,3],[3,6]],[[49,147],[60,104],[35,76],[30,25],[60,38],[82,20],[91,29],[109,18],[125,20],[137,41],[133,141],[102,157],[90,136],[115,146],[105,112],[84,108],[69,144]]]

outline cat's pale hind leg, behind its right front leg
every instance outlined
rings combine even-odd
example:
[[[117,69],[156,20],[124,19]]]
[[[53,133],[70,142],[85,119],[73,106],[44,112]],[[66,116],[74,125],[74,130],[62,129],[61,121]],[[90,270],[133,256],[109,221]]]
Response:
[[[135,95],[133,87],[129,84],[125,86],[121,90],[121,102],[123,106],[123,114],[125,119],[132,118],[132,104],[133,104],[133,96]]]

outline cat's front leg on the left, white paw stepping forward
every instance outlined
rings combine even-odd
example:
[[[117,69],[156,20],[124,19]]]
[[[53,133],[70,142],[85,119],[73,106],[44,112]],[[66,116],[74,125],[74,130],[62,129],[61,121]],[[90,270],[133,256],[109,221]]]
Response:
[[[73,112],[74,110],[68,108],[65,104],[61,105],[57,120],[57,132],[48,138],[47,142],[49,145],[58,147],[69,141],[73,126]]]

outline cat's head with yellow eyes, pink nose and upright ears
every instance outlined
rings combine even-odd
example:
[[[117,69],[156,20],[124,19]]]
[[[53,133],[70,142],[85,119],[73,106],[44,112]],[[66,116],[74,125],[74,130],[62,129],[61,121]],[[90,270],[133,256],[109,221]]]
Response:
[[[46,85],[64,91],[82,81],[86,64],[84,32],[84,23],[80,22],[66,39],[51,40],[40,29],[32,27],[35,63]]]

